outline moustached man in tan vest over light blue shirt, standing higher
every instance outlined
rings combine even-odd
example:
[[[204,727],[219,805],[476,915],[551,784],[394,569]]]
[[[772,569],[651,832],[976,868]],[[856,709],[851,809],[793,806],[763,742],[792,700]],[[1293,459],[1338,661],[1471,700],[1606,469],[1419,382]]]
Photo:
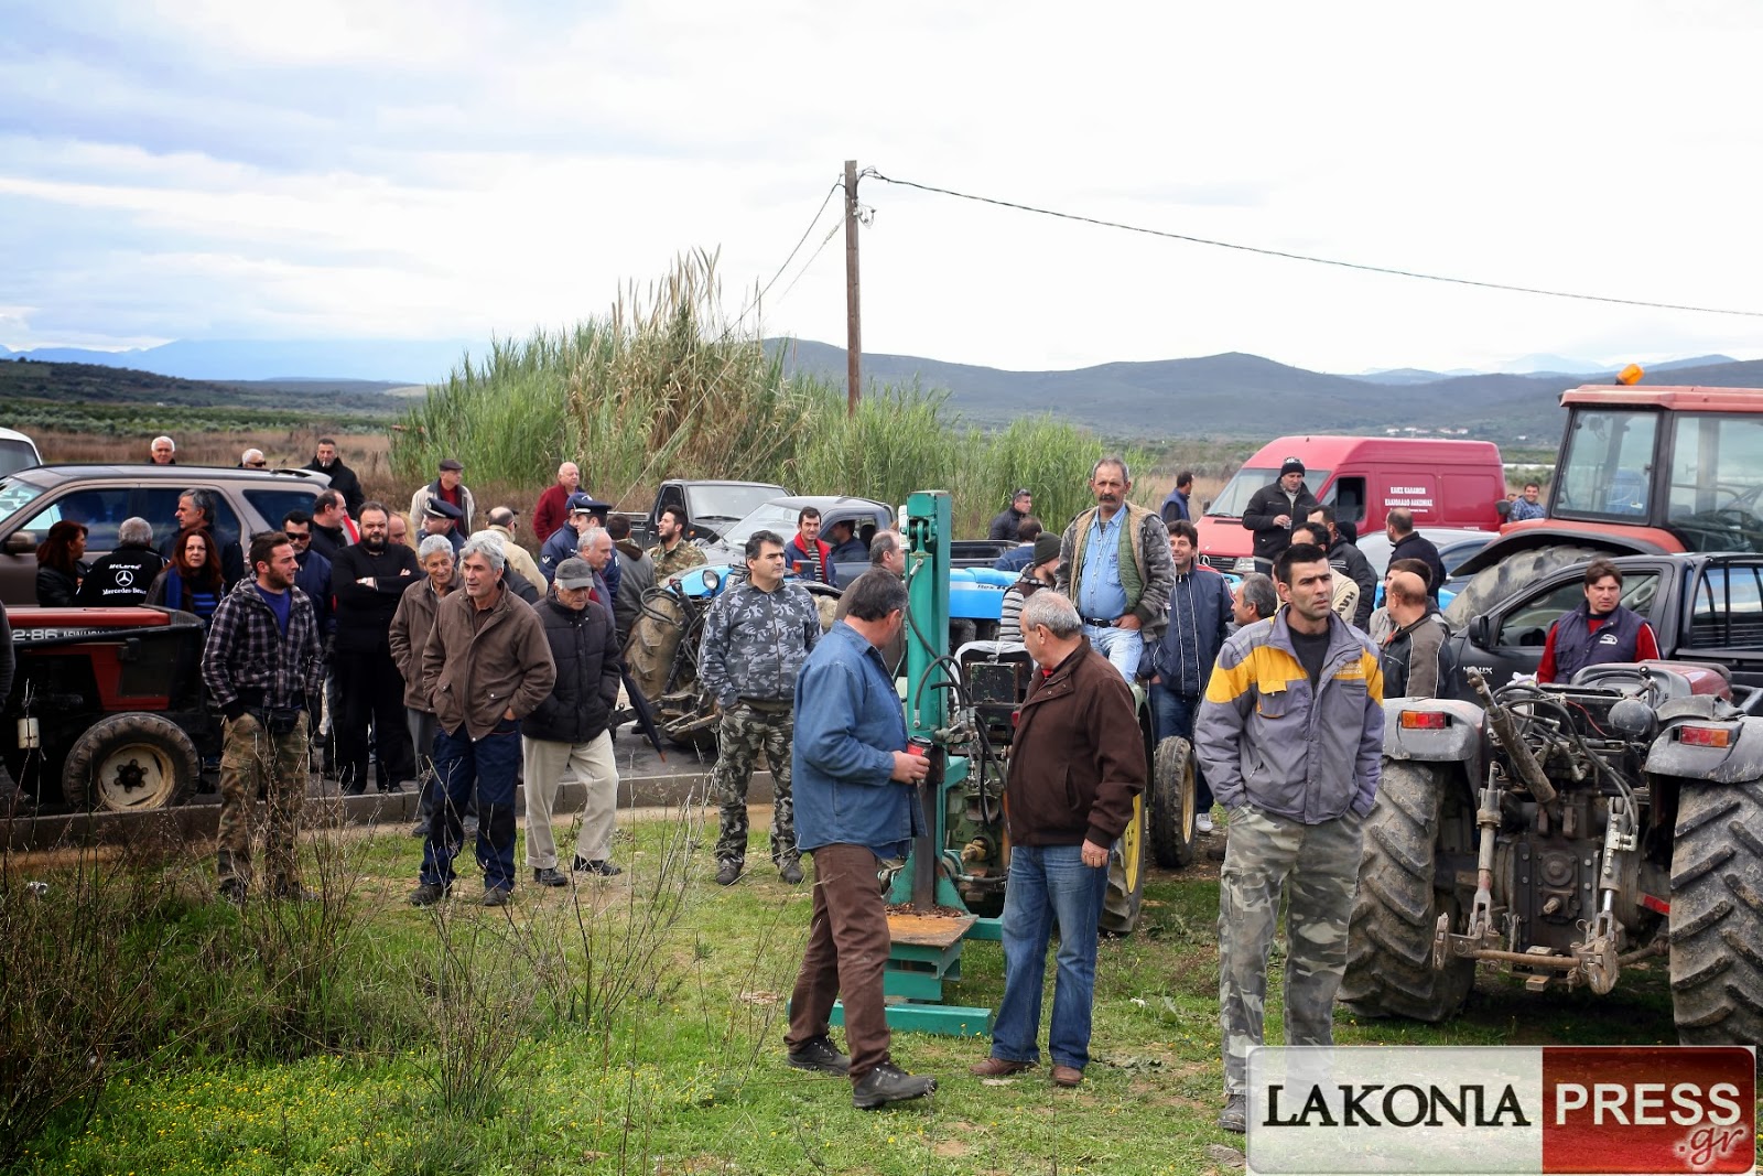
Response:
[[[1060,536],[1056,587],[1077,605],[1090,644],[1132,684],[1144,635],[1169,624],[1169,589],[1176,582],[1169,532],[1162,515],[1127,501],[1132,474],[1121,458],[1097,462],[1090,490],[1097,504]]]

